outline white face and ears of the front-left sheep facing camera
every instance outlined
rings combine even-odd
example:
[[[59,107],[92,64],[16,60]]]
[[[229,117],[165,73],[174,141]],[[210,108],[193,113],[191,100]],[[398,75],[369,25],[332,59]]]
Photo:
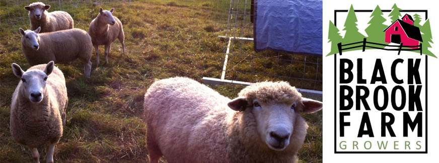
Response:
[[[53,61],[50,61],[44,71],[34,69],[24,72],[19,65],[12,64],[14,75],[21,79],[21,93],[32,103],[40,103],[43,100],[47,77],[52,73],[53,66]]]

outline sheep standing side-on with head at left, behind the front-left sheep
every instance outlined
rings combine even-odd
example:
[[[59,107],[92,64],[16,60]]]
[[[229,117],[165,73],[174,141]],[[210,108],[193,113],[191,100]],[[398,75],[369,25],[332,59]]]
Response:
[[[68,63],[77,58],[84,63],[84,75],[90,77],[93,45],[90,35],[81,29],[69,29],[51,33],[19,29],[21,48],[29,65],[54,61]]]

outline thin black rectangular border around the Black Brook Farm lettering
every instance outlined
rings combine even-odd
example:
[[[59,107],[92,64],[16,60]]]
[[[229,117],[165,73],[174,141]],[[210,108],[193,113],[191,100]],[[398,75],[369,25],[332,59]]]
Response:
[[[392,10],[382,10],[391,12]],[[348,10],[334,10],[334,26],[337,27],[337,12],[348,12]],[[373,10],[354,10],[354,12],[373,12]],[[425,20],[428,19],[427,10],[400,10],[400,12],[424,12]],[[425,55],[425,151],[337,151],[337,54],[334,54],[334,153],[428,153],[428,56]]]

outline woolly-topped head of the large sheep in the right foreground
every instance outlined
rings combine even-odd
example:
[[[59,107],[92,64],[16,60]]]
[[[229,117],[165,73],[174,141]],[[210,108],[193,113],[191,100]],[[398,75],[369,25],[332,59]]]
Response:
[[[285,149],[300,113],[320,110],[323,103],[307,98],[286,82],[261,82],[250,85],[228,103],[244,114],[252,114],[260,140],[273,150]],[[251,123],[251,122],[250,122]],[[306,132],[297,131],[297,132]]]

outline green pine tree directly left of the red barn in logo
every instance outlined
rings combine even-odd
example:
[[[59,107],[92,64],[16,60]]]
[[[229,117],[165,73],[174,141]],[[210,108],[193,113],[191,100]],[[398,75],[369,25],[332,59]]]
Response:
[[[369,27],[364,30],[368,34],[367,41],[380,43],[380,44],[388,44],[385,42],[386,33],[383,32],[387,28],[386,25],[383,25],[383,23],[386,22],[386,18],[383,17],[383,12],[381,11],[378,5],[375,8],[375,10],[372,12],[371,18],[372,19],[368,23],[370,24]],[[380,48],[385,47],[380,45],[374,45],[374,46]],[[367,49],[372,49],[372,48],[367,48]]]

